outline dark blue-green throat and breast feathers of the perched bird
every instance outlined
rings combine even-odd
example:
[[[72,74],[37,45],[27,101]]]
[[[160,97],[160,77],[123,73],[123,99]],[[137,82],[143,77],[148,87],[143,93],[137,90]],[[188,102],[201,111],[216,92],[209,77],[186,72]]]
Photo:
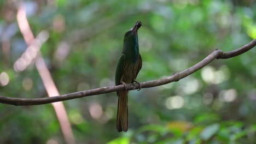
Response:
[[[138,46],[138,35],[136,34],[135,37],[132,39],[126,40],[124,43],[124,51],[127,57],[132,59],[133,63],[136,63],[138,60],[139,54],[139,46]]]

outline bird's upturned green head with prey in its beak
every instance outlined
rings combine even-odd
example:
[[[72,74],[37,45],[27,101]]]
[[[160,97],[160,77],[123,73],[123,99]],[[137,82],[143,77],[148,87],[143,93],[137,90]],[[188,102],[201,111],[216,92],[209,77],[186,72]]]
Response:
[[[138,29],[141,27],[141,22],[137,21],[135,23],[135,26],[133,26],[129,31],[127,31],[124,35],[124,42],[125,41],[130,41],[130,40],[136,40],[137,39],[137,32]]]

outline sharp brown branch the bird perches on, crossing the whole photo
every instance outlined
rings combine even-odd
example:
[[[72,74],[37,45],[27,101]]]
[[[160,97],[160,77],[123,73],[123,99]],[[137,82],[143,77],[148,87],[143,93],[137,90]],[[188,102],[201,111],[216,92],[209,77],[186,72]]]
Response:
[[[256,39],[251,41],[251,43],[246,44],[234,51],[223,52],[217,49],[213,51],[210,55],[208,55],[205,59],[203,59],[201,62],[179,73],[175,73],[172,76],[166,77],[165,79],[141,82],[141,88],[156,87],[156,86],[165,85],[167,83],[171,83],[174,81],[179,81],[184,77],[187,77],[195,73],[195,71],[205,67],[208,63],[212,62],[215,58],[226,59],[226,58],[235,57],[235,56],[241,55],[244,52],[247,52],[248,50],[252,49],[255,45],[256,45]],[[138,88],[139,88],[139,85],[137,83],[130,83],[127,85],[128,90],[133,90]],[[9,105],[42,105],[42,104],[54,103],[57,101],[64,101],[69,99],[88,97],[90,95],[98,95],[103,93],[110,93],[110,92],[117,92],[117,91],[124,91],[124,90],[125,90],[124,85],[119,85],[119,86],[95,88],[87,91],[63,94],[63,95],[59,95],[56,97],[49,97],[49,98],[25,99],[25,98],[10,98],[10,97],[0,96],[0,103],[9,104]]]

